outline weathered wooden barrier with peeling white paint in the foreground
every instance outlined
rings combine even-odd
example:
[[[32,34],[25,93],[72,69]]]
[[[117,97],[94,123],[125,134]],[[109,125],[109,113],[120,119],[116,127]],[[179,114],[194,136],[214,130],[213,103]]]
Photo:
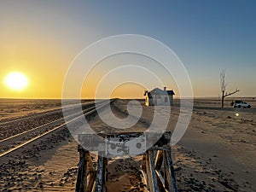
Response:
[[[79,172],[77,192],[106,191],[108,158],[116,155],[142,154],[141,171],[149,192],[175,191],[177,182],[171,156],[171,132],[79,135]],[[157,141],[157,142],[156,142]],[[98,151],[97,167],[93,168],[90,151]]]

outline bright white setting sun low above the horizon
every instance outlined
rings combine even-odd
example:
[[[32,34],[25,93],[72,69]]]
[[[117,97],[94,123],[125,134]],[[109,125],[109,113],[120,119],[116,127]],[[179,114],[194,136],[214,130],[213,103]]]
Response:
[[[28,80],[25,74],[20,72],[12,72],[6,76],[5,84],[11,90],[24,90],[28,84]]]

